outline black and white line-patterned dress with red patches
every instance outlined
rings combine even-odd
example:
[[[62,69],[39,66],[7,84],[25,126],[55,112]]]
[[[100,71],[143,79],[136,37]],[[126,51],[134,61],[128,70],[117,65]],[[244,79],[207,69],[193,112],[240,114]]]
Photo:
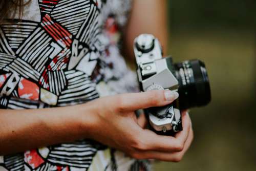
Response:
[[[0,108],[52,108],[135,91],[136,76],[118,48],[130,7],[128,0],[32,0],[22,20],[0,26]],[[147,161],[92,140],[0,156],[0,170],[148,169]]]

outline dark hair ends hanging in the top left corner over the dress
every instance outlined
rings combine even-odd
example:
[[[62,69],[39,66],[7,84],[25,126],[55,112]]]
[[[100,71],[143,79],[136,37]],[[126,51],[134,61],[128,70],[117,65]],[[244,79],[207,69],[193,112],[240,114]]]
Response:
[[[22,18],[23,7],[30,1],[24,3],[24,0],[0,0],[0,24],[5,22],[7,17],[11,18],[15,13],[18,13],[19,18]]]

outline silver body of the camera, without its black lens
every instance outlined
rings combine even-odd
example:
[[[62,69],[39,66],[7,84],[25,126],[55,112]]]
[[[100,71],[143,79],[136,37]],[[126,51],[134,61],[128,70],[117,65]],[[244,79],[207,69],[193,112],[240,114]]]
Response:
[[[163,58],[159,40],[151,34],[141,34],[134,40],[134,54],[141,91],[178,91],[171,57]],[[182,131],[178,100],[163,107],[146,109],[148,120],[158,133]]]

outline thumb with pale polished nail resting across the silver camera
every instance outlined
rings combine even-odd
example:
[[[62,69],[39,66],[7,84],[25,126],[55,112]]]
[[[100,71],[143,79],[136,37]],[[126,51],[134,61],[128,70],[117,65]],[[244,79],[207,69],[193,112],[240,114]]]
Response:
[[[172,103],[179,94],[170,90],[152,90],[142,93],[127,93],[118,95],[115,104],[119,111],[135,111],[152,106],[163,106]]]

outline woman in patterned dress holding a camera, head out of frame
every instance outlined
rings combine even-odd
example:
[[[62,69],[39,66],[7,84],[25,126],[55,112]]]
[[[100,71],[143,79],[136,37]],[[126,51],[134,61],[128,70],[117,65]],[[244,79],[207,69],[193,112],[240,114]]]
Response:
[[[149,170],[142,159],[180,161],[193,139],[189,116],[169,137],[143,129],[144,115],[134,113],[177,93],[125,93],[136,91],[136,79],[117,46],[122,36],[123,54],[133,60],[134,38],[152,33],[166,49],[165,6],[2,1],[0,169]]]

